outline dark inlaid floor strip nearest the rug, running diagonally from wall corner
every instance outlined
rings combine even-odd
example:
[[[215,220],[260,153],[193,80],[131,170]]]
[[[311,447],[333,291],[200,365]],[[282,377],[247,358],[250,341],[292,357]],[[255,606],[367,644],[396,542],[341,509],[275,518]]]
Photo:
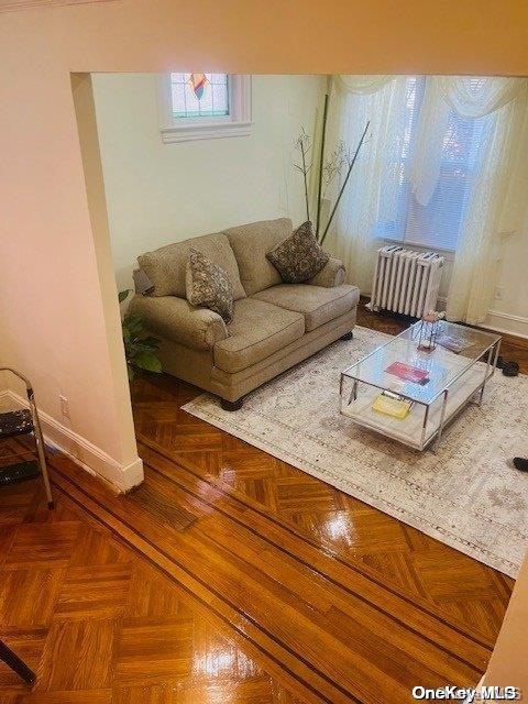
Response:
[[[199,471],[199,468],[197,468],[193,462],[190,462],[186,458],[183,458],[182,454],[177,454],[177,457],[175,458],[165,448],[163,448],[163,446],[160,446],[158,443],[156,443],[153,440],[146,438],[142,433],[138,433],[138,439],[140,441],[140,447],[141,447],[141,444],[143,444],[146,448],[148,448],[148,450],[157,452],[158,454],[164,457],[166,460],[168,460],[170,462],[174,462],[177,466],[179,466],[183,470],[185,470],[185,471],[189,472],[190,474],[193,474],[195,477],[197,477],[197,479],[199,479],[199,480],[201,480],[204,482],[207,482],[208,484],[210,484],[212,487],[215,487],[218,491],[220,491],[226,496],[229,496],[230,498],[237,501],[238,503],[240,503],[241,505],[245,506],[246,508],[250,508],[250,509],[256,512],[257,514],[260,514],[266,520],[271,520],[272,522],[276,524],[280,528],[283,528],[283,529],[287,530],[288,532],[290,532],[292,535],[294,535],[296,538],[301,539],[304,542],[308,543],[310,547],[316,548],[317,550],[321,551],[324,554],[326,558],[340,562],[343,566],[345,566],[348,569],[351,569],[352,571],[356,572],[361,576],[370,580],[371,582],[375,583],[377,586],[380,586],[380,587],[384,588],[385,591],[389,592],[394,596],[405,601],[410,606],[421,609],[425,614],[427,614],[428,616],[433,617],[436,620],[440,622],[444,626],[447,626],[449,628],[452,628],[453,630],[455,630],[458,634],[460,634],[464,638],[468,638],[468,639],[472,640],[474,644],[476,644],[477,646],[481,646],[482,648],[485,648],[486,651],[491,652],[493,650],[494,642],[485,641],[485,640],[479,638],[474,632],[468,632],[468,630],[463,627],[462,624],[446,618],[444,614],[441,614],[441,613],[435,610],[433,608],[431,608],[431,605],[429,603],[424,602],[419,597],[416,597],[416,601],[414,598],[410,600],[406,594],[404,594],[404,593],[399,592],[398,590],[396,590],[394,587],[394,585],[391,585],[391,584],[387,584],[387,583],[383,582],[377,575],[376,576],[373,575],[366,569],[365,565],[363,565],[363,564],[360,565],[360,564],[353,563],[353,562],[349,562],[348,560],[343,559],[341,556],[337,554],[336,552],[330,551],[324,546],[321,546],[321,544],[317,543],[316,541],[311,540],[308,536],[304,535],[299,530],[296,530],[294,526],[287,524],[286,521],[283,521],[277,516],[273,516],[271,514],[267,514],[267,513],[263,512],[262,508],[260,508],[256,504],[253,504],[252,502],[248,501],[245,497],[244,498],[240,497],[232,490],[232,487],[229,484],[226,484],[224,482],[222,482],[221,480],[218,480],[217,477],[215,477],[213,475],[211,475],[209,473],[207,473],[207,477],[206,477]],[[153,468],[153,469],[155,469],[155,468]]]

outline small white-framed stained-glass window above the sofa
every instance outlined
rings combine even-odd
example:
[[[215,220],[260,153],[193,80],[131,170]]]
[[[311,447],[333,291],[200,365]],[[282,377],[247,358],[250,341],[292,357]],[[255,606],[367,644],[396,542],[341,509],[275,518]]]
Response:
[[[249,76],[166,74],[160,79],[160,94],[165,143],[250,133]]]

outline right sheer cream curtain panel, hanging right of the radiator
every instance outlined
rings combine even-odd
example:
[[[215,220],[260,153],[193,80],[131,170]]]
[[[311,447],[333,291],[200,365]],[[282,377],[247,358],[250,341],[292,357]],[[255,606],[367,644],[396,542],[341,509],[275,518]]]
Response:
[[[477,324],[490,310],[497,266],[507,239],[528,237],[528,81],[521,78],[435,79],[459,114],[486,117],[460,232],[448,296],[448,317]]]

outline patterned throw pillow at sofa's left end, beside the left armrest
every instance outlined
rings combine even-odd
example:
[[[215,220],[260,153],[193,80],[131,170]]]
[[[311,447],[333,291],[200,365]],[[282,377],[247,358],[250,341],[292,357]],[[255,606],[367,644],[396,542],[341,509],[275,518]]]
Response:
[[[191,306],[218,312],[226,322],[233,317],[233,287],[227,273],[201,252],[189,250],[186,294]]]

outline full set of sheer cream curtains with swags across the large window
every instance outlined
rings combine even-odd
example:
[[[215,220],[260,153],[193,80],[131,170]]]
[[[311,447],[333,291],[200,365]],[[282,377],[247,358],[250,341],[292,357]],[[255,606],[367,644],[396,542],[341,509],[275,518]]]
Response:
[[[405,77],[341,76],[333,82],[330,141],[354,146],[366,120],[371,138],[349,183],[333,232],[334,250],[351,279],[370,290],[374,252],[380,242],[373,224],[392,219],[406,123]],[[520,78],[433,76],[426,88],[406,178],[420,205],[437,186],[448,117],[482,118],[482,140],[461,226],[448,316],[482,322],[490,308],[494,274],[505,238],[528,237],[528,81]],[[383,194],[382,191],[383,187]],[[383,212],[385,210],[385,212]],[[394,213],[393,213],[394,215]]]

